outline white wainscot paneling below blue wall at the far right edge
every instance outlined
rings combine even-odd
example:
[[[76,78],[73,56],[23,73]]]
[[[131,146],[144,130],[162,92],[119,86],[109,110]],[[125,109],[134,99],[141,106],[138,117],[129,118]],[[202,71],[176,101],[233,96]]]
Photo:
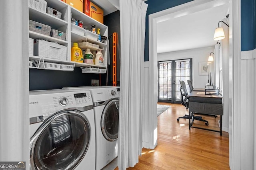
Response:
[[[241,169],[254,169],[255,145],[255,82],[256,56],[242,51],[241,55]]]

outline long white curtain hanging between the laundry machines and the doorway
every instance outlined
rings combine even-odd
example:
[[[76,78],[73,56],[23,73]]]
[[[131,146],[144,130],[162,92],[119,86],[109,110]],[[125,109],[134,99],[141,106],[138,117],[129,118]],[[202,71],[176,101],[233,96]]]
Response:
[[[121,70],[118,168],[138,163],[142,150],[146,10],[142,0],[120,0]]]

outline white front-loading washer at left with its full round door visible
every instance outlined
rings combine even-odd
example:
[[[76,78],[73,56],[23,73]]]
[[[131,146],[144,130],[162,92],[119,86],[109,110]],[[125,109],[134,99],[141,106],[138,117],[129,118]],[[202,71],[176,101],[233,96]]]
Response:
[[[94,170],[90,91],[30,91],[30,170]]]

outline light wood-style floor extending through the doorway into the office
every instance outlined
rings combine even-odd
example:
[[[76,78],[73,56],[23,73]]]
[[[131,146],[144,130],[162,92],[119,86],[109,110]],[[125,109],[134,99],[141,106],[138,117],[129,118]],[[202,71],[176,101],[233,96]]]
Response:
[[[230,170],[228,133],[188,129],[188,114],[181,104],[167,104],[169,109],[158,116],[158,145],[154,150],[142,149],[139,163],[129,170]],[[218,129],[218,119],[202,115],[209,121],[209,128]],[[204,122],[194,121],[203,126]],[[115,168],[118,170],[118,168]]]

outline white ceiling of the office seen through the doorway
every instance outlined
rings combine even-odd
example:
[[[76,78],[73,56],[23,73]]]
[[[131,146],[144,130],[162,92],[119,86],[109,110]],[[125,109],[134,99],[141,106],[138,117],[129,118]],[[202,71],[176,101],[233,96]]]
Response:
[[[227,12],[228,4],[222,4],[159,21],[157,53],[214,46],[214,30]]]

